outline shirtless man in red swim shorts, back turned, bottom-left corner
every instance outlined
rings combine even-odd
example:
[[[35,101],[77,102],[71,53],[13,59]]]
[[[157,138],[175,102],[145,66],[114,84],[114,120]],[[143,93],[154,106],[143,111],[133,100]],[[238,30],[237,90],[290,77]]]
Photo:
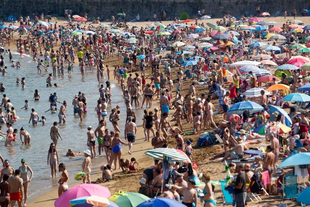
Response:
[[[11,206],[15,206],[17,201],[18,207],[23,203],[23,179],[20,178],[20,170],[15,170],[14,177],[9,178],[9,192]]]

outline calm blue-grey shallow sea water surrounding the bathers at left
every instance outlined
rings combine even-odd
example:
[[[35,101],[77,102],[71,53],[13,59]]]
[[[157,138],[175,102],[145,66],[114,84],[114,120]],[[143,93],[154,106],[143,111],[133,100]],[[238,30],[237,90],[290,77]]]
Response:
[[[42,58],[40,58],[42,59]],[[42,74],[37,74],[37,64],[32,61],[30,56],[24,56],[20,58],[19,53],[13,53],[13,61],[20,62],[22,69],[11,68],[9,62],[8,54],[5,55],[5,65],[8,67],[6,76],[0,76],[0,82],[3,82],[4,87],[7,88],[5,92],[0,92],[0,97],[5,93],[11,103],[15,107],[17,116],[19,117],[18,121],[13,124],[13,129],[17,128],[17,142],[13,142],[12,147],[5,147],[4,141],[0,142],[0,153],[3,159],[10,160],[10,166],[14,169],[18,169],[21,166],[20,160],[26,158],[27,164],[31,167],[34,172],[33,179],[29,185],[28,195],[33,197],[33,195],[39,195],[45,190],[48,190],[48,187],[57,186],[59,178],[51,178],[51,169],[47,165],[47,151],[49,149],[51,139],[50,139],[50,128],[53,126],[53,122],[58,122],[58,112],[56,114],[51,114],[50,111],[45,113],[44,111],[48,110],[50,107],[50,102],[48,98],[51,93],[57,92],[58,101],[63,102],[67,101],[68,107],[66,110],[66,124],[59,124],[60,134],[63,137],[61,141],[59,139],[57,144],[57,149],[59,151],[60,162],[63,162],[66,165],[66,168],[69,172],[70,180],[74,179],[76,173],[81,171],[81,164],[83,156],[70,158],[66,157],[66,153],[69,148],[72,148],[74,152],[85,151],[87,149],[87,126],[93,126],[93,130],[98,126],[98,117],[94,111],[97,100],[100,97],[99,88],[96,72],[95,73],[85,73],[85,78],[81,77],[80,70],[78,65],[74,65],[74,71],[72,72],[72,77],[68,77],[65,70],[65,76],[56,76],[53,77],[52,84],[57,83],[58,85],[64,85],[63,88],[47,88],[46,79],[48,73],[44,72],[42,69]],[[77,62],[77,59],[76,59]],[[66,68],[66,67],[65,67]],[[49,73],[52,73],[52,68],[49,68]],[[25,77],[26,88],[22,89],[21,85],[16,86],[16,78],[19,77],[20,80],[22,77]],[[104,83],[107,80],[107,75],[105,74],[105,79],[102,79],[101,82]],[[108,115],[110,111],[116,105],[120,105],[121,111],[121,120],[119,121],[119,128],[121,130],[121,136],[124,136],[124,126],[125,126],[125,117],[126,117],[126,106],[122,98],[122,90],[112,83],[112,104],[108,105]],[[40,93],[40,101],[34,101],[33,93],[34,90],[38,89]],[[84,120],[80,122],[78,115],[73,116],[73,105],[72,100],[75,94],[81,91],[85,93],[87,97],[87,115],[84,116]],[[24,106],[24,101],[28,100],[29,109],[24,110],[20,109]],[[57,104],[59,108],[61,104]],[[33,127],[32,123],[28,124],[31,108],[34,108],[35,111],[40,116],[46,117],[46,125],[43,126],[42,123],[38,123],[38,126]],[[136,116],[138,120],[141,120],[143,110],[136,110]],[[139,121],[138,121],[139,123]],[[19,132],[20,128],[23,127],[31,135],[31,144],[25,146],[21,144]],[[112,130],[113,126],[108,121],[107,128]],[[2,131],[5,133],[7,131],[6,125],[2,124]],[[98,154],[98,143],[96,141],[97,154]],[[103,153],[105,154],[105,153]],[[106,158],[100,157],[92,160],[92,166],[99,164],[106,164]],[[58,175],[58,174],[57,174]],[[59,176],[59,175],[58,175]],[[29,174],[30,177],[30,174]],[[57,194],[57,192],[55,192]],[[31,199],[31,197],[29,199]]]

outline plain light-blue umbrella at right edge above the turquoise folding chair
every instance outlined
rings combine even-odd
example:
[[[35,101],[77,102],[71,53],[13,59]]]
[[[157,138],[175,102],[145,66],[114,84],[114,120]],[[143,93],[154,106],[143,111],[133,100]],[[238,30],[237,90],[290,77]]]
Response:
[[[283,160],[277,168],[284,168],[301,164],[310,164],[310,152],[296,153],[290,155],[288,158]]]

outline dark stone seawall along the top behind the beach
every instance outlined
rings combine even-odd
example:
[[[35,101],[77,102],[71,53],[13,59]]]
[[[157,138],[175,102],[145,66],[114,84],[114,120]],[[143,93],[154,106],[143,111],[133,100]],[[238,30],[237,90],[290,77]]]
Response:
[[[140,14],[140,20],[153,19],[153,14],[159,11],[167,11],[167,17],[179,17],[182,12],[191,18],[197,16],[198,9],[205,8],[206,14],[210,12],[214,17],[222,17],[223,14],[243,15],[245,11],[249,14],[255,13],[255,8],[260,5],[260,11],[268,11],[275,15],[286,9],[290,14],[292,8],[301,15],[303,9],[310,9],[310,0],[3,0],[0,4],[0,17],[9,15],[31,16],[32,13],[47,15],[48,11],[55,16],[63,16],[64,9],[72,9],[73,14],[83,16],[84,12],[89,17],[99,16],[111,19],[111,16],[124,11],[126,19],[135,18]]]

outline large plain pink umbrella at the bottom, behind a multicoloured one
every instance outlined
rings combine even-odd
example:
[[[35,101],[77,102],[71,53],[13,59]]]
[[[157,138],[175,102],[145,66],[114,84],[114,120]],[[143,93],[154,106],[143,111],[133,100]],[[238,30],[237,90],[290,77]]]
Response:
[[[64,192],[57,200],[55,200],[55,207],[70,207],[70,200],[80,198],[83,196],[100,196],[108,198],[111,193],[108,188],[97,184],[81,184],[70,188]]]

